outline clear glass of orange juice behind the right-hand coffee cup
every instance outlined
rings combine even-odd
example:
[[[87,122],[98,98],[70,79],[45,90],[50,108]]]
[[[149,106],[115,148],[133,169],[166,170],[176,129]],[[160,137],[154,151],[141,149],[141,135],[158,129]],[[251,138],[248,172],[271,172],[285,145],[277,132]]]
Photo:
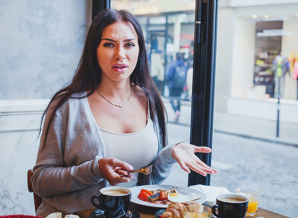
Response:
[[[248,208],[245,216],[252,217],[257,214],[261,190],[253,187],[239,187],[236,189],[236,193],[248,198]]]

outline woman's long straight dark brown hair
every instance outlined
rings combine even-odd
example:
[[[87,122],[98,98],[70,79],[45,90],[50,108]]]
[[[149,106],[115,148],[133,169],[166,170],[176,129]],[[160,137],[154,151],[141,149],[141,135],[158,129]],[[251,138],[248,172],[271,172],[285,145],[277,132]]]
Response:
[[[136,68],[130,76],[130,81],[135,83],[136,85],[139,85],[145,91],[147,96],[149,96],[150,113],[153,114],[153,109],[155,108],[155,111],[157,112],[158,123],[162,129],[163,147],[167,145],[167,112],[165,110],[162,98],[150,76],[149,63],[142,27],[139,24],[139,21],[134,17],[134,15],[132,15],[127,10],[107,9],[100,12],[93,19],[91,26],[89,27],[83,53],[73,79],[69,82],[69,84],[66,84],[52,96],[41,117],[38,137],[41,133],[42,121],[44,120],[46,113],[49,112],[49,114],[47,114],[47,122],[45,122],[45,130],[43,130],[45,131],[45,138],[42,144],[42,149],[46,144],[47,135],[49,133],[49,126],[55,117],[57,109],[61,105],[63,105],[63,103],[66,102],[66,100],[69,98],[86,98],[96,90],[97,85],[102,79],[101,70],[97,61],[96,50],[100,44],[103,29],[109,24],[113,24],[117,21],[130,22],[136,30],[139,44],[139,57]],[[72,96],[75,93],[81,93],[85,91],[85,96]],[[53,102],[55,103],[53,104]],[[49,108],[51,109],[49,110]]]

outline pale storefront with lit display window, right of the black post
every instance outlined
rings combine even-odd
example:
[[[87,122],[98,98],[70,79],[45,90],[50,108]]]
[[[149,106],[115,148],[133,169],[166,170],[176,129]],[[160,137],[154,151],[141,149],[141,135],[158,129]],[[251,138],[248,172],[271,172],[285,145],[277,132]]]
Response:
[[[298,4],[288,2],[235,1],[219,7],[215,110],[276,120],[279,91],[281,121],[298,123],[293,116],[298,107]],[[277,75],[280,54],[288,70]]]

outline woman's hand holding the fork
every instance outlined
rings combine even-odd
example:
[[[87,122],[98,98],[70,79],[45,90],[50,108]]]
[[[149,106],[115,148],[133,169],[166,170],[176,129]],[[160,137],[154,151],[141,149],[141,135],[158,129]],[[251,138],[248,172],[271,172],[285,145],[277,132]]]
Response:
[[[108,180],[112,186],[116,186],[119,183],[128,183],[131,179],[121,177],[117,173],[127,174],[125,170],[131,170],[133,167],[124,161],[120,161],[116,158],[100,158],[98,160],[99,169],[103,178]]]

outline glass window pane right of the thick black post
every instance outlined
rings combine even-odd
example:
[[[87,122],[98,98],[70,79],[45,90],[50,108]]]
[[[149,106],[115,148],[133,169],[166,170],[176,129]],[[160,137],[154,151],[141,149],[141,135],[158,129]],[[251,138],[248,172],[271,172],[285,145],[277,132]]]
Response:
[[[219,1],[211,185],[257,187],[261,208],[295,217],[298,1],[288,2]]]

